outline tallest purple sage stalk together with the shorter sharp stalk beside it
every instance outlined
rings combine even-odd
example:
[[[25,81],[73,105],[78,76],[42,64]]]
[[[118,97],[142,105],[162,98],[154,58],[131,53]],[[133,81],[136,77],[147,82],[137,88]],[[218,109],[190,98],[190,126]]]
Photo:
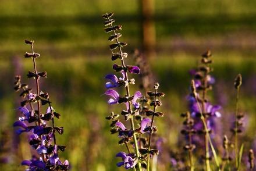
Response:
[[[106,27],[104,30],[106,33],[112,32],[113,35],[111,35],[108,40],[114,41],[115,43],[109,44],[109,47],[112,51],[112,60],[120,59],[121,65],[114,64],[113,70],[115,70],[117,73],[121,73],[122,77],[118,79],[115,74],[108,74],[105,76],[105,79],[110,80],[110,82],[105,84],[106,88],[118,88],[118,87],[125,87],[126,94],[124,96],[120,96],[118,92],[115,90],[108,90],[105,92],[106,95],[111,95],[113,99],[109,99],[108,103],[113,104],[125,104],[126,109],[121,112],[121,115],[125,116],[125,120],[130,120],[130,129],[127,129],[125,125],[118,119],[119,114],[111,113],[110,116],[107,116],[106,119],[112,120],[111,123],[111,133],[119,133],[119,137],[122,138],[119,141],[119,144],[125,144],[127,148],[128,154],[126,152],[119,152],[116,156],[123,159],[122,162],[117,163],[117,166],[125,166],[126,169],[133,169],[133,170],[142,170],[142,163],[147,170],[150,170],[150,159],[154,155],[158,155],[159,151],[158,149],[151,149],[151,139],[152,134],[157,131],[157,127],[155,127],[154,124],[154,118],[155,116],[163,116],[163,113],[156,112],[157,106],[161,106],[162,103],[158,99],[158,97],[163,97],[164,94],[162,92],[157,92],[157,89],[159,87],[159,84],[156,83],[154,86],[155,91],[151,92],[148,91],[147,94],[150,97],[154,97],[152,102],[150,103],[151,106],[154,106],[154,110],[145,111],[145,114],[147,116],[152,116],[152,120],[148,117],[145,117],[141,115],[141,108],[139,102],[137,102],[137,99],[143,98],[143,95],[140,91],[136,91],[134,95],[131,95],[130,93],[130,84],[134,84],[134,79],[128,78],[128,73],[131,74],[139,74],[140,68],[137,66],[132,65],[125,65],[124,58],[127,57],[127,53],[122,52],[123,46],[126,46],[126,42],[120,42],[119,37],[122,36],[120,33],[116,33],[116,31],[121,30],[122,26],[113,26],[113,22],[115,20],[111,19],[113,16],[113,13],[106,13],[105,15],[102,15],[105,21]],[[113,52],[114,49],[118,49],[118,52]],[[144,99],[145,100],[145,99]],[[144,101],[142,100],[142,101]],[[138,117],[136,117],[138,116]],[[139,118],[139,119],[138,119]],[[140,124],[140,127],[136,127],[137,124]],[[142,134],[148,133],[149,138],[148,141],[146,138],[142,137]],[[132,142],[130,142],[132,140]],[[134,152],[131,150],[130,145],[132,144],[134,147]],[[145,165],[145,163],[147,163]]]

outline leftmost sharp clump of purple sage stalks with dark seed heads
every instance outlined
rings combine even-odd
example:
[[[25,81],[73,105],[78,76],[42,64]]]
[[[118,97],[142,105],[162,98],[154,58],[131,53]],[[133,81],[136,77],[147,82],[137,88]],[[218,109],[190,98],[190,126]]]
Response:
[[[31,148],[37,151],[37,156],[32,156],[31,160],[24,160],[22,165],[28,166],[27,170],[69,170],[69,162],[66,160],[63,163],[59,160],[58,152],[61,150],[65,151],[66,146],[56,144],[56,132],[63,134],[63,127],[55,126],[55,117],[59,119],[61,116],[55,112],[52,108],[51,102],[49,101],[49,94],[39,91],[38,80],[40,77],[47,77],[46,72],[38,73],[35,66],[35,58],[38,58],[40,54],[35,54],[33,51],[33,41],[25,41],[26,44],[31,45],[32,53],[25,54],[25,58],[32,58],[34,61],[34,72],[29,71],[27,74],[28,78],[35,78],[37,92],[32,93],[29,85],[22,84],[20,82],[20,76],[16,76],[15,79],[15,90],[22,90],[21,97],[27,99],[21,102],[21,107],[17,108],[18,111],[22,112],[22,116],[19,120],[13,123],[14,127],[19,127],[16,130],[18,135],[22,133],[28,133],[29,144]],[[34,104],[37,104],[37,110],[34,109]],[[30,106],[26,108],[26,105]],[[46,112],[43,114],[41,107],[48,105]],[[52,126],[47,126],[48,122],[52,123]]]

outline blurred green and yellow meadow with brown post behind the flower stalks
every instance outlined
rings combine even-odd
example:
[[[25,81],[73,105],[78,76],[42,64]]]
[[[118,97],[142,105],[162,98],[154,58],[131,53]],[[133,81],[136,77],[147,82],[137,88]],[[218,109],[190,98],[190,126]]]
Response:
[[[233,81],[241,73],[239,111],[246,113],[246,129],[241,134],[241,140],[246,140],[244,155],[253,148],[255,1],[1,0],[0,11],[0,170],[24,170],[20,162],[31,156],[26,134],[18,137],[12,127],[20,117],[14,109],[23,100],[13,90],[15,76],[21,75],[22,83],[35,91],[34,80],[26,78],[33,61],[24,58],[24,53],[31,51],[24,40],[34,40],[34,51],[41,54],[37,70],[46,70],[48,77],[40,79],[40,90],[48,92],[55,111],[61,113],[56,125],[63,126],[64,133],[56,138],[58,144],[67,146],[59,154],[61,161],[68,159],[70,170],[125,170],[116,167],[120,159],[115,158],[125,147],[118,145],[116,134],[110,134],[110,122],[105,119],[125,106],[109,106],[108,97],[101,96],[106,91],[102,78],[114,73],[112,64],[116,62],[109,51],[110,34],[103,30],[101,15],[106,12],[114,12],[115,24],[122,25],[120,41],[128,43],[123,48],[129,54],[126,64],[136,64],[133,52],[137,49],[152,74],[151,85],[157,81],[159,91],[166,94],[159,108],[165,116],[156,120],[165,151],[159,156],[159,170],[170,170],[170,151],[182,149],[180,113],[188,110],[189,70],[208,49],[213,54],[216,79],[209,99],[222,105],[218,120],[222,131],[217,139],[221,141],[224,132],[230,135],[236,102]],[[135,78],[132,92],[140,88],[140,77]],[[118,91],[123,92],[122,88]]]

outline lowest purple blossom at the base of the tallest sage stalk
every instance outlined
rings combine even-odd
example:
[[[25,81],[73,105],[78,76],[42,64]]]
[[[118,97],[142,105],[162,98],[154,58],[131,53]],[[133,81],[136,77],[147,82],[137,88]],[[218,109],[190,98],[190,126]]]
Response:
[[[137,160],[133,161],[131,158],[132,154],[126,154],[125,152],[119,152],[116,154],[116,157],[121,157],[123,159],[122,162],[117,163],[118,167],[125,166],[125,169],[133,168],[137,164]]]

